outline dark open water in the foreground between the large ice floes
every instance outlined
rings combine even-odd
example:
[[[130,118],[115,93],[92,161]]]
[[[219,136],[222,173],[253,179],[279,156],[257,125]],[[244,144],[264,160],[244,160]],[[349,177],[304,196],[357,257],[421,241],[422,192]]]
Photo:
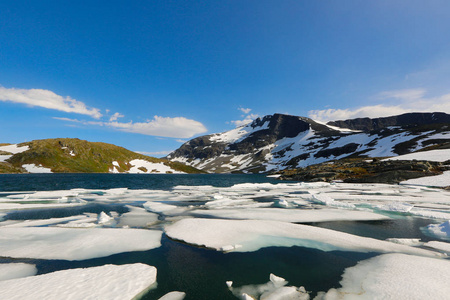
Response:
[[[144,263],[158,269],[158,287],[143,299],[158,299],[171,291],[183,291],[186,300],[236,299],[225,282],[235,286],[261,284],[274,273],[290,285],[305,286],[314,296],[338,287],[345,268],[374,253],[323,252],[303,247],[269,247],[250,253],[221,253],[174,242],[163,236],[158,249],[128,252],[84,261],[0,259],[0,263],[36,264],[38,274],[105,264]]]

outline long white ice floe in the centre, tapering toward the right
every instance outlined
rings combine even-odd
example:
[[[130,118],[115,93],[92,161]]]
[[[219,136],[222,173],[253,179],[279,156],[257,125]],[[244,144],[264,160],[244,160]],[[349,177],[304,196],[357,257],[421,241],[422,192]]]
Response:
[[[262,220],[183,219],[165,228],[172,239],[219,251],[251,252],[270,246],[302,246],[322,251],[438,253],[334,230]]]

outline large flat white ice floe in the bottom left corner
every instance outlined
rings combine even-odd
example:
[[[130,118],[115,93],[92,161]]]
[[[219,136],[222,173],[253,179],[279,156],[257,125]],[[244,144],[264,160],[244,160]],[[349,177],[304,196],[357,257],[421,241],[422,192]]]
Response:
[[[71,269],[0,282],[1,297],[35,299],[135,299],[156,282],[156,268],[145,264]]]

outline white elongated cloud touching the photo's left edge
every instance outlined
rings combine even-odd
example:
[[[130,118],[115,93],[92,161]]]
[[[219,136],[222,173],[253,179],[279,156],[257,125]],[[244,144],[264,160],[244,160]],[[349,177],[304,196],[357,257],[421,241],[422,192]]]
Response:
[[[38,106],[68,113],[91,116],[95,119],[102,117],[98,108],[88,108],[86,105],[70,97],[63,97],[49,90],[42,89],[15,89],[0,86],[0,101],[22,103],[29,106]]]

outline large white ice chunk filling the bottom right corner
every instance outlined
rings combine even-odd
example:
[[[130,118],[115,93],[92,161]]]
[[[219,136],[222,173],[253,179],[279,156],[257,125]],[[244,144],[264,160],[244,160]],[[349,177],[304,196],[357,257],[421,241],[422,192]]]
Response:
[[[448,299],[450,261],[385,254],[359,262],[343,274],[341,288],[319,293],[325,299]]]

